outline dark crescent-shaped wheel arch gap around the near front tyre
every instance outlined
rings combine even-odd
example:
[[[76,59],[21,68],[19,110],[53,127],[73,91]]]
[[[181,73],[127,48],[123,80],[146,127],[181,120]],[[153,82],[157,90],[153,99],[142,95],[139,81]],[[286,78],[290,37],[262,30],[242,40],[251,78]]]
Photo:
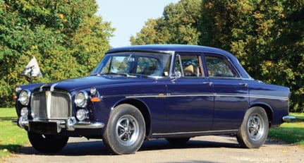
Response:
[[[115,105],[115,107],[120,104],[130,104],[140,110],[142,116],[145,119],[145,128],[146,128],[145,136],[147,138],[151,133],[151,116],[150,116],[150,110],[148,109],[145,102],[142,102],[140,99],[124,99],[121,102],[118,102]]]

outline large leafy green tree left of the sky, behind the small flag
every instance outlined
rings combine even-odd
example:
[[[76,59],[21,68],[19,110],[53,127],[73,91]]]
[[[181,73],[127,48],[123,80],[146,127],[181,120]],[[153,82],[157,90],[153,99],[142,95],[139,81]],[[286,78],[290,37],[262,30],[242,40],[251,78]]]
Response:
[[[34,83],[87,75],[109,49],[114,28],[96,16],[95,0],[0,0],[0,107],[13,105],[20,76],[33,56],[44,78]]]

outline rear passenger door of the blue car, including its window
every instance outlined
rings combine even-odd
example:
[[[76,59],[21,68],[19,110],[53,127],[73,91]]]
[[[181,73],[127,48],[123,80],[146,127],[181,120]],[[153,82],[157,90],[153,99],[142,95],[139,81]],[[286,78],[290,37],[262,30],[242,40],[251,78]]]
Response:
[[[226,56],[205,54],[209,81],[214,87],[212,130],[238,129],[248,109],[248,83]]]

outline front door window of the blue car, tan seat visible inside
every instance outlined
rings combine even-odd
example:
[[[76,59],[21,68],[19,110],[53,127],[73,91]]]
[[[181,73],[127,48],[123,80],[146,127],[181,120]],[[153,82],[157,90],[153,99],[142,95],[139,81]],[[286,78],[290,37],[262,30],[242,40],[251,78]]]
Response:
[[[175,72],[181,72],[183,77],[203,76],[201,63],[198,55],[178,55],[176,56]]]

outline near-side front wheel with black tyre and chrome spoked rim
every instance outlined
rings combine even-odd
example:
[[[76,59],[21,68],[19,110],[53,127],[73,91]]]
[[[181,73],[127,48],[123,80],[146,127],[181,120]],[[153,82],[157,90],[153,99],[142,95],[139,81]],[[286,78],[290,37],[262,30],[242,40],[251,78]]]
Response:
[[[145,120],[130,104],[115,107],[110,114],[103,142],[116,155],[135,153],[145,139]]]

